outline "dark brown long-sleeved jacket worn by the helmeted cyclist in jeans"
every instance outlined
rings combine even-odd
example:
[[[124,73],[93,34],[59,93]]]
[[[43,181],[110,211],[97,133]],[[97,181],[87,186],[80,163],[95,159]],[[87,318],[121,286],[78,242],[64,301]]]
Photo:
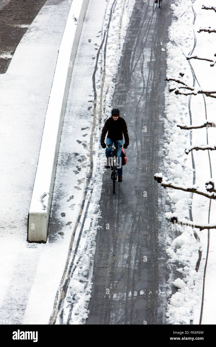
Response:
[[[104,142],[107,131],[107,137],[111,138],[111,140],[122,140],[124,134],[125,142],[129,143],[128,128],[123,118],[119,117],[117,120],[114,120],[110,117],[105,121],[101,134],[101,142]]]

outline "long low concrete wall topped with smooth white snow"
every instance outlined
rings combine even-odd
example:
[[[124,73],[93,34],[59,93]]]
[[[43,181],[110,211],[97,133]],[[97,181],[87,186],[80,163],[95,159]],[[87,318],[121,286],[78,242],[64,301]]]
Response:
[[[28,214],[28,241],[46,242],[61,131],[79,37],[89,0],[72,0],[47,105]]]

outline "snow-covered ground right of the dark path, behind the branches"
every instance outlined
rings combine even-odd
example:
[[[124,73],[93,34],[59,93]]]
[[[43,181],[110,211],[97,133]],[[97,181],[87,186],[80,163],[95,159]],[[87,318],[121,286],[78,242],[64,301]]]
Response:
[[[200,57],[215,60],[215,33],[201,32],[200,27],[215,27],[216,13],[214,10],[202,9],[202,5],[214,6],[213,1],[175,1],[172,5],[177,20],[170,27],[170,43],[167,44],[167,78],[174,78],[189,87],[200,88],[203,91],[215,91],[216,67],[210,67],[209,61],[190,59]],[[183,76],[179,74],[184,74]],[[191,151],[188,155],[186,148],[195,145],[215,143],[215,128],[185,130],[176,127],[177,124],[200,125],[206,119],[214,121],[216,101],[204,94],[185,96],[169,92],[169,88],[182,84],[168,82],[166,90],[166,134],[164,166],[168,180],[181,186],[196,184],[205,190],[205,183],[210,177],[214,178],[216,166],[215,151]],[[180,90],[184,93],[187,89]],[[215,94],[213,94],[215,95]],[[190,133],[192,136],[190,137]],[[179,219],[186,218],[195,225],[215,224],[216,203],[214,200],[198,194],[185,193],[167,188],[171,209]],[[191,206],[192,203],[192,206]],[[170,211],[170,206],[166,206]],[[167,213],[170,218],[170,213]],[[173,239],[167,234],[167,254],[171,263],[179,264],[179,278],[171,274],[170,283],[178,291],[172,295],[168,305],[167,317],[171,324],[199,324],[204,268],[206,265],[204,305],[201,324],[216,323],[216,307],[214,299],[216,261],[215,261],[215,230],[200,231],[198,228],[174,226],[170,223],[170,231],[178,231],[178,237]],[[198,237],[197,237],[198,235]],[[209,242],[209,250],[207,245]],[[201,251],[201,261],[198,264],[198,250]],[[206,258],[208,253],[208,262]],[[197,264],[197,271],[196,271]],[[178,267],[178,265],[176,265]],[[177,269],[177,268],[176,268]]]

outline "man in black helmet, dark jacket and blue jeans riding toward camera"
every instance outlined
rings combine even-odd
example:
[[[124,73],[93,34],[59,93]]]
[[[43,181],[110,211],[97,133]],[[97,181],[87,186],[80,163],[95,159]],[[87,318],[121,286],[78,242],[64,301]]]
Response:
[[[107,139],[106,139],[106,144],[105,144],[105,136],[106,133],[108,131],[107,134]],[[119,147],[120,145],[122,145],[122,141],[123,141],[123,134],[124,134],[124,145],[123,148],[128,148],[129,145],[129,136],[128,136],[128,128],[127,128],[127,124],[126,121],[120,117],[120,112],[118,109],[112,109],[111,111],[111,117],[108,118],[105,121],[104,127],[102,129],[102,134],[101,134],[101,146],[103,148],[106,148],[106,145],[113,145],[114,142],[114,146]],[[118,182],[122,182],[122,164],[121,164],[121,152],[122,152],[122,148],[118,148],[116,149],[116,157],[119,158],[119,162],[117,161],[117,163],[119,164],[117,166],[117,175],[118,175]],[[109,163],[108,163],[108,158],[110,156],[111,153],[111,147],[107,147],[105,154],[106,154],[106,169],[109,169]]]

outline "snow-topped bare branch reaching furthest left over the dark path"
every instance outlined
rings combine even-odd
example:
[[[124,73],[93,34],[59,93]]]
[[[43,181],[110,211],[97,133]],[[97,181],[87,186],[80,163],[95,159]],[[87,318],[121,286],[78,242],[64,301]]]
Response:
[[[184,191],[184,192],[196,193],[196,194],[208,197],[210,199],[216,199],[216,192],[204,191],[203,189],[200,189],[197,185],[185,187],[183,185],[173,183],[172,181],[167,181],[167,178],[165,176],[163,176],[162,173],[155,174],[154,178],[164,188],[179,189],[179,190]]]

